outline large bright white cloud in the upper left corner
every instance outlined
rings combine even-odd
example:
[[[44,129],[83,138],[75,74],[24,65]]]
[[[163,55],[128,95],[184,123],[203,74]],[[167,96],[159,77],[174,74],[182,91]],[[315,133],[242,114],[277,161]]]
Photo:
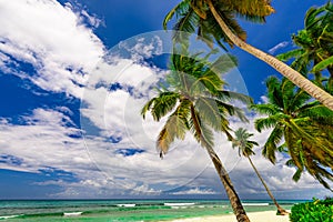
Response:
[[[32,64],[37,74],[17,74],[44,90],[80,97],[87,73],[103,56],[102,42],[80,16],[56,0],[1,0],[0,26],[0,52]]]

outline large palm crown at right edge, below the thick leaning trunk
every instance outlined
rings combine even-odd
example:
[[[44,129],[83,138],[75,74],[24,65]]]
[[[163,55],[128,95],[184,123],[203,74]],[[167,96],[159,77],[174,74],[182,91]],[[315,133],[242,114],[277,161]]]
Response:
[[[256,112],[266,115],[255,120],[256,130],[273,128],[263,155],[275,163],[276,151],[287,152],[291,157],[287,164],[297,169],[293,176],[295,181],[306,170],[330,189],[325,179],[333,180],[333,111],[312,101],[286,79],[280,81],[271,77],[266,87],[269,102],[252,105]],[[280,145],[283,138],[284,143]]]

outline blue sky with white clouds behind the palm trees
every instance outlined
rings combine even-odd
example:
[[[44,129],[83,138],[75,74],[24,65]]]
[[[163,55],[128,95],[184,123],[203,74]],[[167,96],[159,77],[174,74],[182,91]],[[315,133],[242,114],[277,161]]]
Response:
[[[161,122],[141,107],[168,73],[170,32],[162,20],[179,1],[0,0],[0,199],[225,199],[202,148],[190,134],[163,160],[155,149]],[[271,53],[293,49],[305,11],[325,1],[272,1],[265,24],[240,20],[248,42]],[[297,6],[295,8],[295,6]],[[170,26],[169,28],[172,28]],[[191,41],[192,49],[206,47]],[[239,49],[230,89],[265,102],[264,80],[276,73]],[[224,52],[221,52],[224,53]],[[261,155],[270,131],[246,128],[260,143],[253,162],[278,199],[323,198],[331,192],[279,154]],[[222,134],[215,150],[242,199],[269,199],[246,159]]]

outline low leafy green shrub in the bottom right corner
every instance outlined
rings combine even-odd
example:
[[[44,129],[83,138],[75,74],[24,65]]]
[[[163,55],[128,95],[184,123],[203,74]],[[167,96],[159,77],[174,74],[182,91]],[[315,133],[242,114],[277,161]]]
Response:
[[[292,206],[291,222],[333,222],[333,199],[313,199],[313,202],[299,203]]]

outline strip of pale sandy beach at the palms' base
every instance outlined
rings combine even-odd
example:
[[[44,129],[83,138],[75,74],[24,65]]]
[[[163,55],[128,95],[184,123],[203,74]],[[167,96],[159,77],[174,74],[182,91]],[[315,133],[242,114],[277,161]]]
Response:
[[[276,211],[251,212],[248,213],[252,222],[289,222],[287,215],[276,215]],[[236,222],[233,214],[219,216],[203,216],[193,219],[172,220],[170,222]]]

